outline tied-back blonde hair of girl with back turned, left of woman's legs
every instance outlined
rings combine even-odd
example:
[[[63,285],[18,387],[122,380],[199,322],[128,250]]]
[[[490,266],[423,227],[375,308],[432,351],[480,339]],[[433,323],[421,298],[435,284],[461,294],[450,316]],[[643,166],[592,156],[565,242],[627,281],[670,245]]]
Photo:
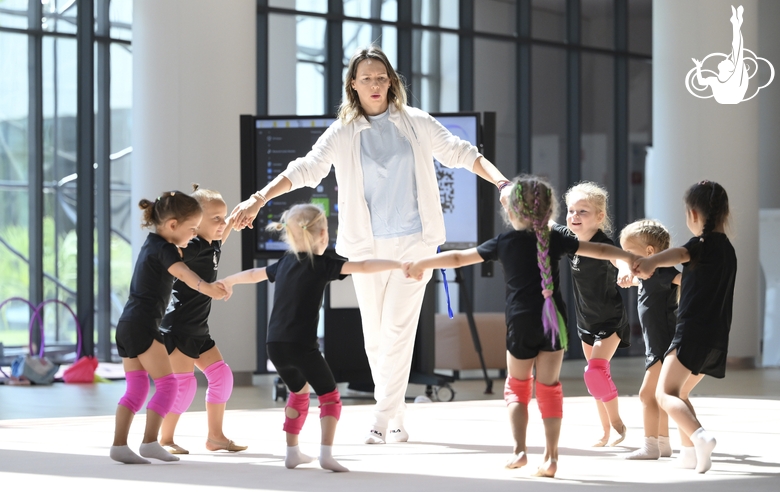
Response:
[[[266,230],[280,232],[282,241],[290,246],[290,252],[305,254],[314,262],[314,245],[323,229],[328,227],[325,211],[311,203],[293,205],[286,210],[279,222],[271,222]]]

